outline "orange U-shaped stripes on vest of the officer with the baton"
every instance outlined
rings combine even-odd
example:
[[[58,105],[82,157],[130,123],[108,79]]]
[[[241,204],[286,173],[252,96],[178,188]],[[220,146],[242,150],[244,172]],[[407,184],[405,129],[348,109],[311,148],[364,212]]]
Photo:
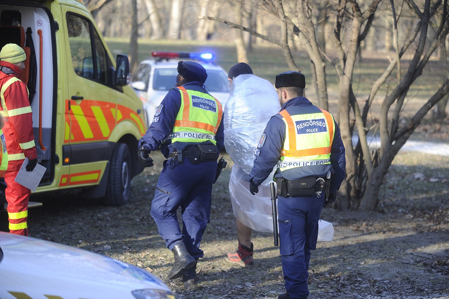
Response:
[[[330,153],[330,149],[332,147],[332,139],[334,134],[334,121],[332,120],[332,116],[329,112],[326,110],[321,109],[321,112],[324,114],[324,117],[326,118],[328,130],[329,130],[329,140],[330,145],[329,147],[317,147],[317,148],[308,148],[304,150],[297,150],[296,149],[296,132],[295,132],[295,124],[293,123],[293,119],[291,119],[290,114],[287,112],[287,110],[282,110],[279,112],[279,114],[284,117],[284,119],[287,122],[287,129],[288,129],[288,144],[289,144],[289,150],[282,149],[281,156],[288,156],[288,157],[306,157],[306,156],[318,156],[318,155],[326,155]]]

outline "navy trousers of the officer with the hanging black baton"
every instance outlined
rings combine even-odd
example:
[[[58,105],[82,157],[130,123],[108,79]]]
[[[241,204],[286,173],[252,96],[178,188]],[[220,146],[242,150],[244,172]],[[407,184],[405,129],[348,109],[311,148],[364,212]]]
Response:
[[[309,295],[310,251],[317,248],[318,220],[324,200],[324,193],[319,198],[278,197],[279,251],[285,288],[292,299]]]

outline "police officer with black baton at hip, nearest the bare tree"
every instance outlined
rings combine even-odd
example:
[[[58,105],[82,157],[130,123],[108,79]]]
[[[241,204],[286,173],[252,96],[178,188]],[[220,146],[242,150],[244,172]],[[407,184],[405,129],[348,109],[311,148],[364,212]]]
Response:
[[[277,165],[279,244],[287,290],[278,298],[305,299],[321,208],[337,198],[346,161],[334,117],[303,97],[304,75],[278,74],[275,86],[282,108],[254,150],[250,191],[259,192],[258,186]]]

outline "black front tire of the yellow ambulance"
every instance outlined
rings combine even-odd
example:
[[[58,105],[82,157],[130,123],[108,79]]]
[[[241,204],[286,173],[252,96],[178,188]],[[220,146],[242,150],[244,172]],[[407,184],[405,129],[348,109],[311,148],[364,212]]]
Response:
[[[110,161],[109,179],[103,199],[108,206],[121,206],[128,202],[131,189],[132,161],[128,145],[117,143]]]

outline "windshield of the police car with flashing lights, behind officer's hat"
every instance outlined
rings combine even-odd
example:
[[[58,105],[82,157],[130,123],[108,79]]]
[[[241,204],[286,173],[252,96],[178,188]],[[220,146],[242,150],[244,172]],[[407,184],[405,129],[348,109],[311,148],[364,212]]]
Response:
[[[175,87],[176,69],[154,69],[153,89],[170,90]],[[223,71],[218,69],[207,70],[207,80],[204,83],[207,91],[212,92],[229,92],[228,78]]]

